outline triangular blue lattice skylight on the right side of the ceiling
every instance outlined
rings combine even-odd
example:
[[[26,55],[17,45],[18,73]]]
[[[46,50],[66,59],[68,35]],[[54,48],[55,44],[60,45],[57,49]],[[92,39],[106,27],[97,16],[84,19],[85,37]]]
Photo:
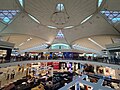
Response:
[[[120,22],[120,11],[101,11],[112,23]]]

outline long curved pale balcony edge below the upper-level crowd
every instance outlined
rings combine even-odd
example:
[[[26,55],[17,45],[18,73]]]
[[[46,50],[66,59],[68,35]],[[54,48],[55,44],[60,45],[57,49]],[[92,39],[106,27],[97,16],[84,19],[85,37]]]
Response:
[[[98,66],[105,66],[105,67],[111,67],[113,69],[120,69],[120,65],[114,65],[114,64],[107,64],[107,63],[101,63],[101,62],[94,62],[94,61],[82,61],[82,60],[28,60],[28,61],[18,61],[18,62],[9,62],[9,63],[1,63],[0,67],[8,67],[8,66],[15,66],[18,64],[28,64],[28,63],[37,63],[37,62],[75,62],[75,63],[81,63],[81,64],[92,64],[92,65],[98,65]]]

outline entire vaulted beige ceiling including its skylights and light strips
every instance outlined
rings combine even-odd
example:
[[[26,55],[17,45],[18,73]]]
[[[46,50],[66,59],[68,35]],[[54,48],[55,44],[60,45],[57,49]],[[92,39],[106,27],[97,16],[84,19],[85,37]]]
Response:
[[[0,0],[0,39],[15,43],[20,50],[64,43],[101,51],[107,44],[120,41],[119,3],[120,0]],[[60,30],[59,39],[56,35]]]

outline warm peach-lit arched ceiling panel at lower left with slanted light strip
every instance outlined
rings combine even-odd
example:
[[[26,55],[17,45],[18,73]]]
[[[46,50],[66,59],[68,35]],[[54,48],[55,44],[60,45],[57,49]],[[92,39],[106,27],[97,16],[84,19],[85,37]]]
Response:
[[[46,41],[38,37],[20,34],[3,35],[2,40],[15,43],[15,47],[19,48],[20,50],[46,43]]]

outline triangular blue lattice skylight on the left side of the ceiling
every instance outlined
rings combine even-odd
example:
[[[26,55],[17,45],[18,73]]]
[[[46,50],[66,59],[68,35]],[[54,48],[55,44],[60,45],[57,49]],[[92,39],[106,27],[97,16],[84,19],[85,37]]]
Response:
[[[0,10],[0,21],[10,23],[12,19],[19,13],[19,10]]]

